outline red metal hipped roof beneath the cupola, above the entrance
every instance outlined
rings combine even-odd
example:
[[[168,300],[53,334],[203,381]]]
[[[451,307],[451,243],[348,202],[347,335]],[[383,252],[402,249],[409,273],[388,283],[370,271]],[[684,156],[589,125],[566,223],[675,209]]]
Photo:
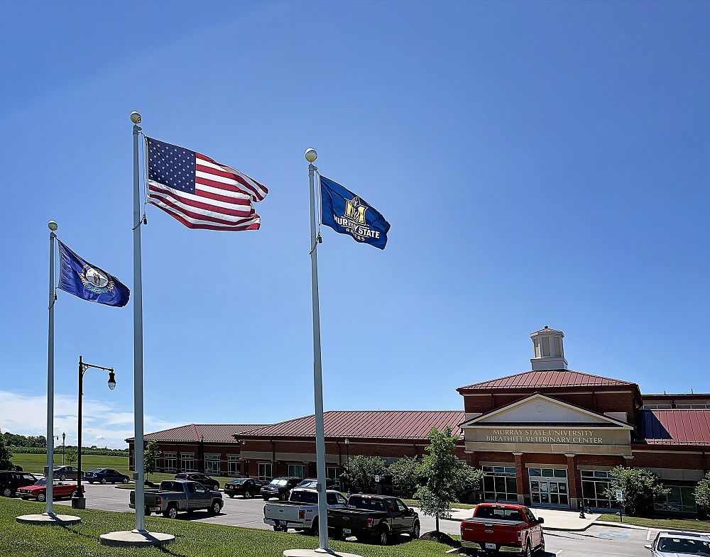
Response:
[[[516,373],[500,379],[492,379],[459,387],[457,391],[467,389],[537,389],[540,387],[599,387],[607,385],[635,385],[620,379],[610,379],[601,375],[591,375],[572,370],[540,370]]]

